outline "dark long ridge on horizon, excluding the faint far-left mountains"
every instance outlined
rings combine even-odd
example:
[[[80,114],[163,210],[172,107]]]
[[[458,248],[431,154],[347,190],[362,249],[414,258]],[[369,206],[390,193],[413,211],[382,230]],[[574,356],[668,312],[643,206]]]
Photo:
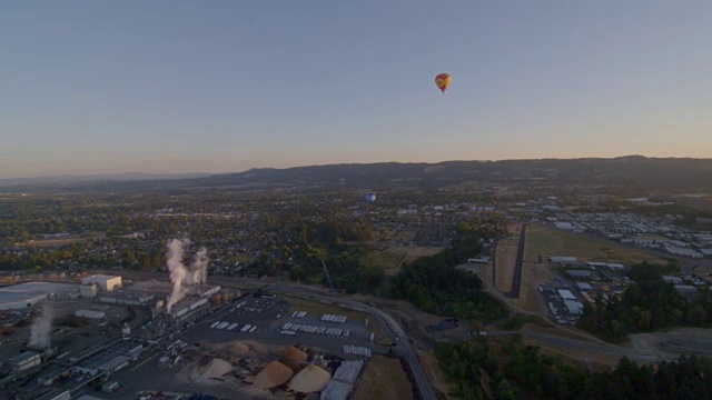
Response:
[[[231,184],[356,184],[411,182],[442,186],[459,182],[532,182],[712,188],[712,159],[646,158],[444,161],[437,163],[352,163],[251,169],[195,181],[207,187]]]

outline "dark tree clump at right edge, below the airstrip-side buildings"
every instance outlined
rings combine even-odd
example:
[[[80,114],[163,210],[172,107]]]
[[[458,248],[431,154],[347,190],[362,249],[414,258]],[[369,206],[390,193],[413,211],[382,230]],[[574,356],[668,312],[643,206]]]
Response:
[[[662,269],[646,263],[633,266],[629,286],[621,299],[585,304],[578,327],[609,341],[621,341],[629,333],[649,332],[662,328],[712,323],[712,293],[698,288],[698,297],[690,302],[662,279]]]

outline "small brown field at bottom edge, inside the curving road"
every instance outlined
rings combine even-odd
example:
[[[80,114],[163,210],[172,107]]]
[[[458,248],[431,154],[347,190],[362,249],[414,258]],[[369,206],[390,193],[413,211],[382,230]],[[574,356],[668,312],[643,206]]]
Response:
[[[397,359],[374,356],[368,361],[364,377],[354,393],[354,400],[374,399],[413,399],[411,382]]]

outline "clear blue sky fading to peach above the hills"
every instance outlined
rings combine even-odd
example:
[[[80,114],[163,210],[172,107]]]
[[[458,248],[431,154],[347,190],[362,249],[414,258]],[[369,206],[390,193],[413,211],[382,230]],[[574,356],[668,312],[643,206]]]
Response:
[[[709,0],[6,1],[0,178],[712,157],[711,16]]]

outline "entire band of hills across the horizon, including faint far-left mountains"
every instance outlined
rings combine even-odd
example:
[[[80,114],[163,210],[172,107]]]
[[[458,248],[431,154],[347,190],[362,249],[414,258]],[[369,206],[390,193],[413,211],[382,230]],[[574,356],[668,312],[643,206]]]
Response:
[[[186,177],[190,176],[190,177]],[[138,177],[138,179],[136,178]],[[167,178],[168,177],[168,178]],[[464,182],[506,184],[610,184],[655,189],[712,189],[712,159],[619,158],[444,161],[437,163],[344,163],[257,168],[224,174],[109,174],[85,180],[48,181],[48,190],[268,190],[275,188],[347,187],[383,190],[398,187],[436,188]],[[100,179],[103,178],[103,179]],[[134,179],[132,179],[134,178]],[[3,190],[8,190],[7,183]],[[31,189],[39,189],[34,183]],[[27,188],[14,183],[12,190]]]

